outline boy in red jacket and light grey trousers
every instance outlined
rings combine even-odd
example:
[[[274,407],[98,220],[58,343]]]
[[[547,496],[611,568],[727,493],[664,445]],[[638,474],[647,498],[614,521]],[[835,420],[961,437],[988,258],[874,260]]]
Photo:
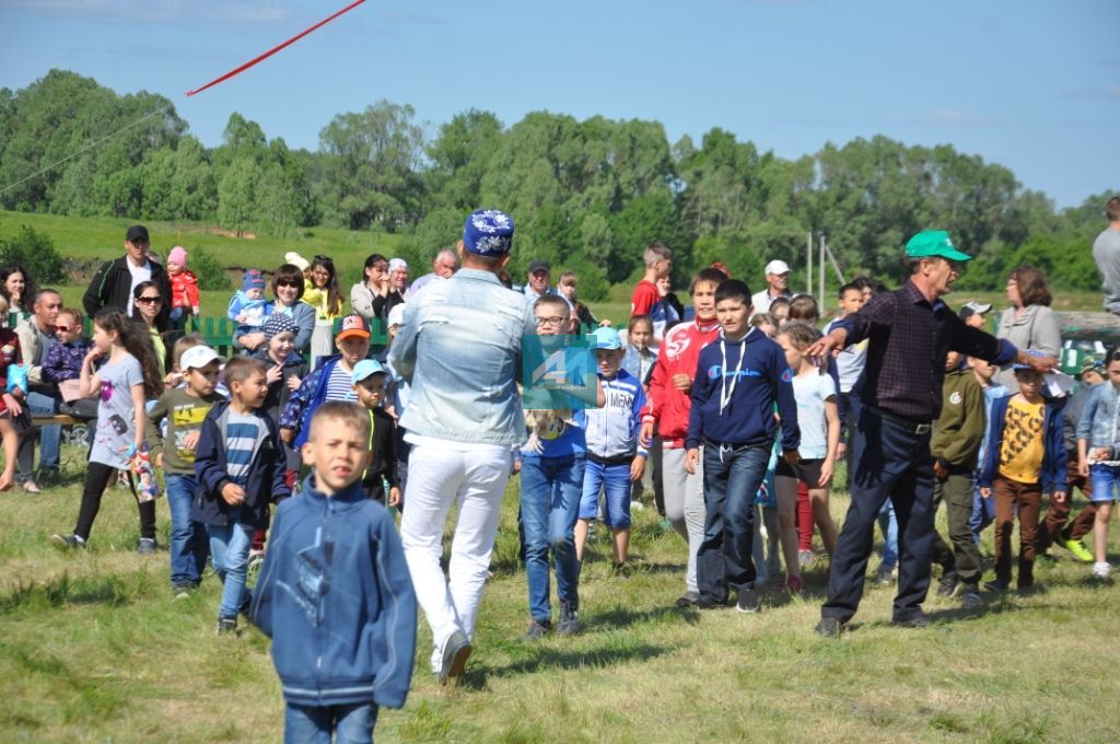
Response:
[[[716,288],[726,278],[717,269],[703,269],[692,280],[689,294],[692,296],[696,318],[691,323],[678,324],[665,333],[650,379],[648,400],[642,411],[642,446],[650,446],[655,426],[661,433],[665,518],[689,541],[685,592],[676,601],[680,607],[688,607],[700,601],[697,588],[697,550],[703,541],[704,526],[703,468],[698,467],[696,473],[684,469],[684,435],[689,430],[692,378],[696,375],[700,350],[719,336]]]

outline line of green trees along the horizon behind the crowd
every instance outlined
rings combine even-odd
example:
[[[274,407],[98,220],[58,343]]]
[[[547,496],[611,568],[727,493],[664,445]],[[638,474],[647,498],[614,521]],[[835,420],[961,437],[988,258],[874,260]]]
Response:
[[[517,223],[513,271],[551,260],[580,273],[589,299],[641,272],[641,249],[654,241],[673,249],[679,278],[721,260],[750,279],[771,258],[803,273],[813,232],[847,275],[897,280],[900,247],[927,227],[951,231],[978,258],[963,287],[998,286],[1030,262],[1056,287],[1095,289],[1089,245],[1108,197],[1058,212],[1001,165],[883,136],[788,160],[720,128],[670,143],[655,121],[533,112],[507,127],[477,110],[431,127],[409,105],[379,101],[334,117],[314,152],[270,140],[239,113],[222,145],[206,148],[160,95],[118,95],[58,69],[0,90],[0,188],[67,157],[6,190],[0,207],[281,238],[318,224],[385,231],[403,235],[405,258],[423,268],[455,242],[466,212],[496,206]]]

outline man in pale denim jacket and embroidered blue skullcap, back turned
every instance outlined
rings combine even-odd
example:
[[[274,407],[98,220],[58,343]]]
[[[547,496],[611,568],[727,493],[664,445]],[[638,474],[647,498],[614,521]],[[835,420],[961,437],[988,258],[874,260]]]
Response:
[[[522,336],[535,326],[525,296],[496,275],[512,243],[507,214],[470,214],[458,244],[463,269],[409,303],[389,353],[411,385],[400,421],[412,446],[401,542],[441,683],[459,677],[470,654],[513,449],[525,439],[516,380]],[[458,521],[445,579],[439,560],[452,503]]]

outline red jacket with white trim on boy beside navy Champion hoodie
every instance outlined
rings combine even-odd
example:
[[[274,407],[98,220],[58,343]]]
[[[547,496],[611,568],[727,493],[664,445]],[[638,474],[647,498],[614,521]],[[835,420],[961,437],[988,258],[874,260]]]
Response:
[[[687,374],[691,380],[697,371],[700,350],[719,336],[715,318],[704,325],[698,320],[674,325],[665,333],[665,341],[657,353],[650,379],[650,396],[642,410],[643,421],[659,424],[657,430],[669,448],[683,447],[689,431],[691,390],[673,387],[673,375]]]

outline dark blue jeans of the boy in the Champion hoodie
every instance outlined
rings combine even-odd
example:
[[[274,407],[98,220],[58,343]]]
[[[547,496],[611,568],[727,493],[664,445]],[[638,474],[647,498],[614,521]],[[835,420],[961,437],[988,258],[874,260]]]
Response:
[[[697,550],[697,588],[702,602],[724,604],[728,589],[752,589],[757,573],[755,494],[766,476],[771,447],[703,448],[703,541]]]

